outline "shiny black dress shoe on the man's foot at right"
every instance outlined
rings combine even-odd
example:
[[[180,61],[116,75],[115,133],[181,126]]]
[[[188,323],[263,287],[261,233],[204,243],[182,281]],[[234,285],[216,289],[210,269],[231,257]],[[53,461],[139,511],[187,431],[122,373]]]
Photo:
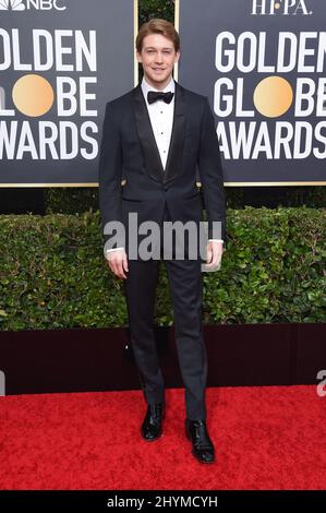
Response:
[[[205,420],[185,419],[185,434],[192,441],[192,454],[201,463],[215,462],[215,450]]]

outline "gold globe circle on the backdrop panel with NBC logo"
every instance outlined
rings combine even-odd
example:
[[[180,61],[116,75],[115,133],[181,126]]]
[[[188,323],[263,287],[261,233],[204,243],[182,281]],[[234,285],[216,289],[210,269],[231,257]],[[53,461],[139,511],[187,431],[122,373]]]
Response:
[[[32,118],[44,116],[52,107],[55,93],[51,84],[40,75],[21,76],[12,90],[12,99],[22,114]]]

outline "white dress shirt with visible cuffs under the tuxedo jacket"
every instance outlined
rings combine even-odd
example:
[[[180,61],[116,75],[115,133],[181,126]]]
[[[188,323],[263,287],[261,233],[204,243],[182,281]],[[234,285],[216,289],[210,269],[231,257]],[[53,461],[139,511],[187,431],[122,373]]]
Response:
[[[148,82],[145,80],[145,76],[143,76],[141,87],[142,87],[142,92],[146,102],[146,106],[147,106],[147,110],[148,110],[148,115],[150,119],[150,124],[152,124],[152,129],[155,135],[161,164],[162,164],[164,169],[166,169],[171,133],[172,133],[176,94],[173,95],[173,98],[169,104],[166,104],[162,99],[158,99],[154,102],[153,104],[148,104],[147,93],[149,91],[157,91],[157,92],[159,91],[161,93],[168,93],[168,92],[176,93],[174,80],[171,76],[170,82],[164,90],[156,90],[150,84],[148,84]],[[219,242],[224,242],[222,239],[208,239],[208,240],[216,240]],[[108,249],[107,253],[109,253],[110,251],[118,251],[120,249],[123,249],[123,248]]]

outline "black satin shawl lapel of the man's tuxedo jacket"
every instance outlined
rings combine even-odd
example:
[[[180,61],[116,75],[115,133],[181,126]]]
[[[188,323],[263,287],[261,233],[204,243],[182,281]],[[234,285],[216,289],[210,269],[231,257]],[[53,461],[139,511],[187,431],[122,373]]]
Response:
[[[185,106],[184,90],[178,82],[176,84],[174,114],[171,141],[167,158],[166,169],[164,169],[155,135],[152,129],[146,102],[138,84],[133,90],[134,112],[140,141],[143,147],[145,167],[148,175],[157,181],[167,182],[177,177],[181,169],[184,132],[185,132]]]

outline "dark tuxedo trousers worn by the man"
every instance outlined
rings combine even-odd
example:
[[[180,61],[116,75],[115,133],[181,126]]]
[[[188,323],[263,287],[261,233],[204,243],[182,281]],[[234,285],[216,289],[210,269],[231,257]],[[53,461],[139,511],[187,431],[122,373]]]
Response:
[[[164,220],[169,219],[169,212],[166,208]],[[207,354],[202,323],[202,262],[200,258],[164,261],[173,303],[176,343],[185,387],[186,417],[192,420],[205,420]],[[165,399],[165,383],[154,337],[159,260],[129,260],[128,264],[129,272],[124,285],[130,342],[145,399],[148,404],[160,403]]]

